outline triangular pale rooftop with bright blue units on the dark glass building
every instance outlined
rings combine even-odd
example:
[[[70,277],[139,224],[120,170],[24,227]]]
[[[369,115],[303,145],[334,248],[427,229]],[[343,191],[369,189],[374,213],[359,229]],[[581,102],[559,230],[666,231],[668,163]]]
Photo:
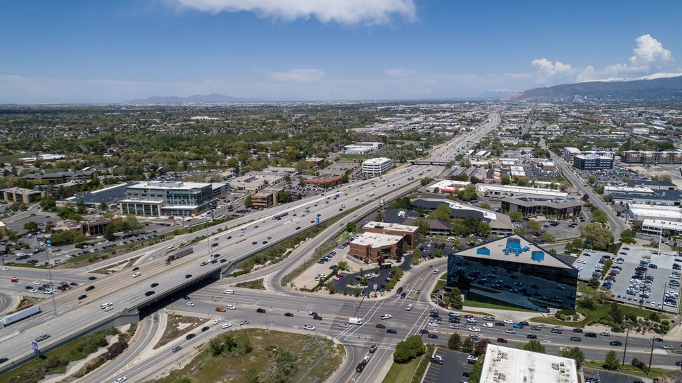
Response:
[[[527,263],[571,269],[572,266],[554,258],[550,253],[514,234],[509,237],[493,240],[477,247],[471,247],[456,253],[457,256],[470,258],[486,258],[506,260],[509,262]]]

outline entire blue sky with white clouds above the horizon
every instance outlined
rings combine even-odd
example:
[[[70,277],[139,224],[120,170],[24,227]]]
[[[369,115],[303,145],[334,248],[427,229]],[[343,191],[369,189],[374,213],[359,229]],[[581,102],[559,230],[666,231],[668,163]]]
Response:
[[[475,97],[682,73],[682,1],[0,0],[0,103]]]

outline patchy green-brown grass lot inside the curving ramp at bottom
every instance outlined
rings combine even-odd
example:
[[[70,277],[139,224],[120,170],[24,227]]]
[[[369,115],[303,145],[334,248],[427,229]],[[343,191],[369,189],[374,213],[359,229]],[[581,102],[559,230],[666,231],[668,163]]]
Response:
[[[289,372],[287,382],[324,382],[340,366],[344,357],[342,346],[332,346],[329,339],[315,337],[315,334],[295,334],[262,329],[247,329],[223,332],[230,334],[241,343],[248,339],[250,353],[211,354],[208,345],[189,364],[180,370],[154,380],[152,383],[172,383],[180,377],[189,382],[246,382],[247,371],[253,369],[261,382],[277,380],[281,366]],[[292,353],[295,359],[287,357]],[[281,364],[278,366],[278,364]]]

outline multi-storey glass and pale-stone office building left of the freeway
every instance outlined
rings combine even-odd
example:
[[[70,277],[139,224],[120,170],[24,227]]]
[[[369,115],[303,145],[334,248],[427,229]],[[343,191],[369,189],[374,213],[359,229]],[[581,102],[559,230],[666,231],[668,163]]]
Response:
[[[209,210],[211,184],[197,182],[140,182],[125,188],[121,214],[139,217],[193,217]]]

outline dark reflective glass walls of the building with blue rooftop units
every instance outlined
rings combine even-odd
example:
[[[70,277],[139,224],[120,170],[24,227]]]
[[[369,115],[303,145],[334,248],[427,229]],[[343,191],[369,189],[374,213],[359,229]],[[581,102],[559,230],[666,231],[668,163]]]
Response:
[[[572,310],[578,270],[541,263],[514,262],[451,254],[448,287],[458,287],[471,301],[514,305],[531,310]]]

